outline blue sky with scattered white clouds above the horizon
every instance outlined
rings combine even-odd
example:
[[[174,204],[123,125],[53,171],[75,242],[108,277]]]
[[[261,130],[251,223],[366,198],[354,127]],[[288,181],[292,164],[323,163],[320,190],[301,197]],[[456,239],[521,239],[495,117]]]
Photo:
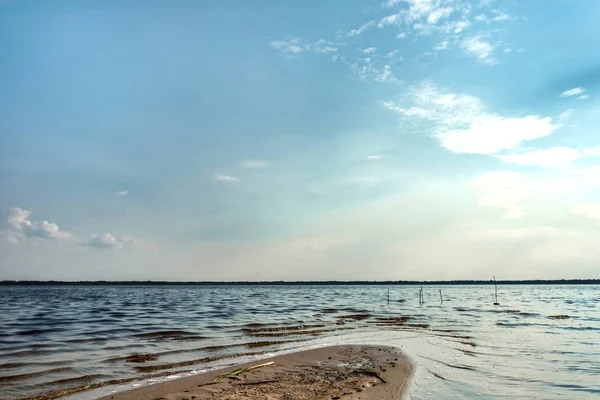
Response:
[[[595,0],[2,0],[0,279],[598,278]]]

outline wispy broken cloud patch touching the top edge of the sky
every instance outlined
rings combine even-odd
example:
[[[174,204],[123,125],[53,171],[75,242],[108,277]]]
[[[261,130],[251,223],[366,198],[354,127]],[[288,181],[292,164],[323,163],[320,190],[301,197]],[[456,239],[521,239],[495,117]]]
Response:
[[[480,4],[477,7],[479,14],[476,15],[472,2],[468,0],[388,0],[382,6],[391,9],[388,15],[378,20],[369,19],[346,34],[338,32],[335,42],[321,39],[314,43],[302,43],[300,38],[295,38],[272,41],[270,45],[284,52],[286,58],[297,58],[300,53],[333,53],[331,62],[346,63],[362,80],[395,82],[397,79],[391,69],[375,59],[375,46],[366,43],[370,46],[356,48],[352,43],[344,43],[343,38],[362,35],[374,27],[383,30],[384,33],[381,34],[387,35],[391,32],[397,39],[410,37],[414,41],[420,41],[425,36],[435,35],[434,43],[437,44],[428,49],[429,51],[425,50],[411,57],[413,62],[428,64],[435,55],[433,51],[458,49],[481,64],[495,65],[500,60],[494,53],[506,55],[511,47],[502,38],[502,29],[490,29],[486,26],[492,22],[518,19],[516,16],[509,16],[502,7],[492,7],[491,4]],[[389,49],[385,49],[382,54],[389,53]],[[365,54],[372,58],[367,61],[364,58],[361,60],[361,55]]]

